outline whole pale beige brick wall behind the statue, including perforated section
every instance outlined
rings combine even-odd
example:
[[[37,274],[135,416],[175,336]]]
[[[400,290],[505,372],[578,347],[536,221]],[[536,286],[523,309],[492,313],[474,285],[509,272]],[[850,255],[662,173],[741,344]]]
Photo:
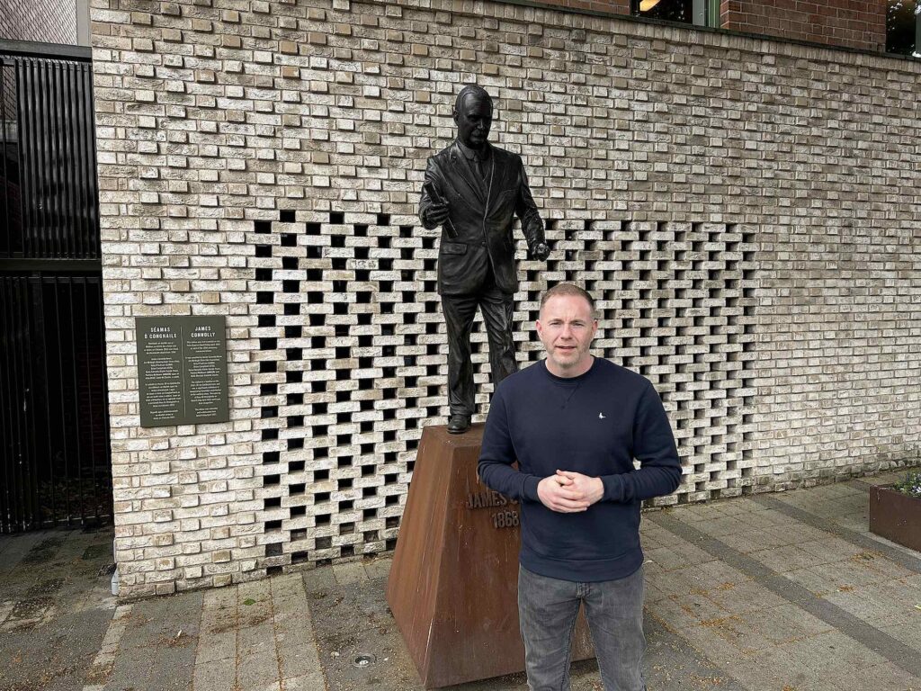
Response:
[[[656,383],[680,442],[661,503],[918,460],[921,65],[465,8],[94,0],[126,594],[393,545],[447,413],[415,204],[473,80],[554,241],[520,267],[520,358],[548,283],[596,293],[595,352]],[[227,315],[232,419],[140,428],[134,318],[189,313]]]

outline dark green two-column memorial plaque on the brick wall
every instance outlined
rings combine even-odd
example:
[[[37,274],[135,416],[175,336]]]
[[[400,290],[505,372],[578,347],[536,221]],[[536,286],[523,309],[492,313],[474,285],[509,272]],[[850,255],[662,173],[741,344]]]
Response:
[[[137,317],[141,427],[227,422],[225,318]]]

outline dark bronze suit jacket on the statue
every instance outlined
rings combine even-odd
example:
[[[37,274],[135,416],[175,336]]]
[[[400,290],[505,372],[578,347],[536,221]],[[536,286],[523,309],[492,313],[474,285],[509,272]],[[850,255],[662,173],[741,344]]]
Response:
[[[490,146],[490,145],[487,145]],[[481,183],[472,178],[457,142],[428,159],[426,182],[448,202],[451,225],[441,230],[438,249],[438,293],[472,295],[483,287],[492,265],[495,284],[511,296],[518,289],[512,223],[517,215],[528,248],[544,241],[543,223],[528,187],[521,157],[491,146],[492,171]],[[419,217],[426,228],[432,200],[423,189]]]

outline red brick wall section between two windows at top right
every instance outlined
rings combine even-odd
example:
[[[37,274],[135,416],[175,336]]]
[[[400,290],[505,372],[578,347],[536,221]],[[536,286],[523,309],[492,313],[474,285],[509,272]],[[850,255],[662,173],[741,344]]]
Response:
[[[722,0],[723,29],[881,51],[886,0]]]

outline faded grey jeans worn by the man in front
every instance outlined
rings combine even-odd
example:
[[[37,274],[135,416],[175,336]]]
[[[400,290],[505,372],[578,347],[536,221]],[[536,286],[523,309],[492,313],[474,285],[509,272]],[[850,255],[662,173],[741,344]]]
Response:
[[[569,691],[579,603],[585,605],[605,691],[645,691],[643,568],[620,580],[580,583],[519,567],[519,621],[530,691]]]

